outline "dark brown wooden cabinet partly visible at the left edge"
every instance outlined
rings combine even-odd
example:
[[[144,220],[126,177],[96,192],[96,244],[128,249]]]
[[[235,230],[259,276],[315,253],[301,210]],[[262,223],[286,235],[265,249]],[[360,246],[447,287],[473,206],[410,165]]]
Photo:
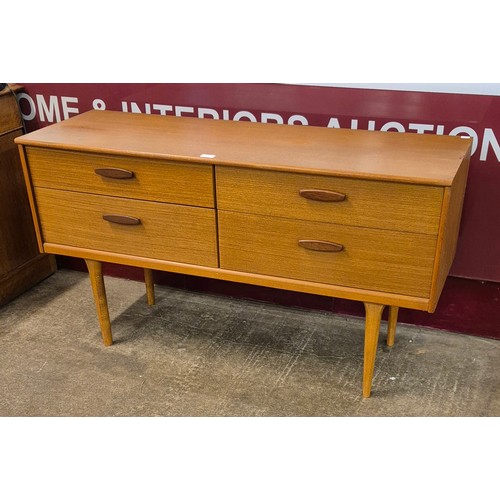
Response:
[[[19,87],[13,87],[13,91]],[[38,250],[19,153],[23,133],[16,97],[0,92],[0,305],[55,271],[53,256]]]

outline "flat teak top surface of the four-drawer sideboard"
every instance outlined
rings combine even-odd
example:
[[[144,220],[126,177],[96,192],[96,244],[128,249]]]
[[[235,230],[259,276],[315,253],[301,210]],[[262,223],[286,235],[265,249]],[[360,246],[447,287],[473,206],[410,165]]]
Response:
[[[92,153],[449,186],[472,140],[433,134],[92,110],[17,143]]]

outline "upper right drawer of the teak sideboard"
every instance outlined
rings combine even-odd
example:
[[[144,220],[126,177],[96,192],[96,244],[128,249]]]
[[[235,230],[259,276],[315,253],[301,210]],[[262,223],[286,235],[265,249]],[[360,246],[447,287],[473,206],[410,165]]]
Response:
[[[441,187],[224,167],[216,167],[216,179],[217,206],[223,210],[424,234],[438,232]],[[301,190],[309,191],[303,192],[308,198],[300,195]],[[345,195],[345,199],[321,201],[325,196],[335,198],[322,192],[325,190]]]

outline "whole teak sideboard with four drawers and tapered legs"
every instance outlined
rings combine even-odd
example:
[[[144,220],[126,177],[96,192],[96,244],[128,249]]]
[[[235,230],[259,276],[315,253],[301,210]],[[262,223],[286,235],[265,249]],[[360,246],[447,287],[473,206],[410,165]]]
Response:
[[[364,302],[363,396],[382,311],[433,312],[472,140],[89,111],[16,138],[40,251]]]

